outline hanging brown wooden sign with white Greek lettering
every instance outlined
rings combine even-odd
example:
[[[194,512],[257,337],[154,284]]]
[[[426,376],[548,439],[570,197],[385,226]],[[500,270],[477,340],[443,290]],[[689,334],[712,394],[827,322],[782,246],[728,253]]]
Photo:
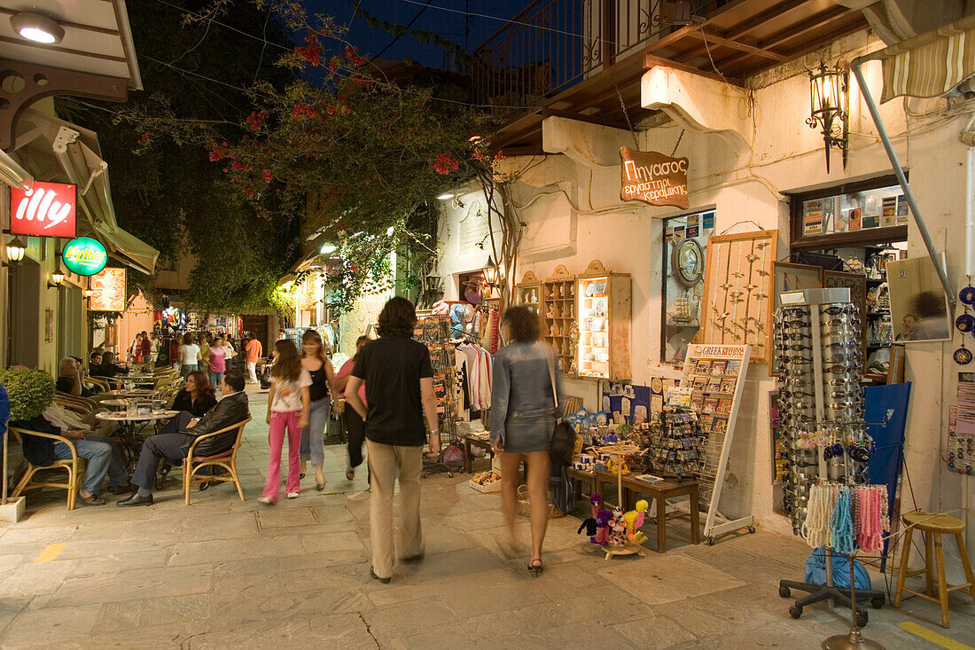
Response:
[[[619,147],[624,201],[645,201],[650,205],[672,205],[686,209],[687,159],[672,158],[658,151],[637,151]]]

